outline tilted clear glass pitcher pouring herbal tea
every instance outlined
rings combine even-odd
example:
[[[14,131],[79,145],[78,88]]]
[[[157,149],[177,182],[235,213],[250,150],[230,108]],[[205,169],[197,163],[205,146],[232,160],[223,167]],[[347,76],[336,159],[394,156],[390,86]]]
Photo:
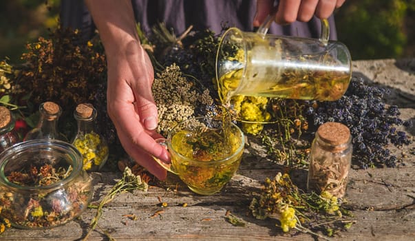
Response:
[[[352,74],[350,52],[329,41],[321,20],[320,39],[266,34],[268,16],[257,32],[228,29],[216,56],[216,78],[222,104],[236,95],[336,101]]]

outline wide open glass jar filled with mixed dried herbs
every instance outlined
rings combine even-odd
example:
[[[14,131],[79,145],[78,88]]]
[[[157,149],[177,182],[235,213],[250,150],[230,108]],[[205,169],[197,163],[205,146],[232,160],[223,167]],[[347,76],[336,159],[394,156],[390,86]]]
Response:
[[[61,140],[28,140],[0,154],[0,216],[21,229],[45,229],[78,217],[92,198],[82,157]]]

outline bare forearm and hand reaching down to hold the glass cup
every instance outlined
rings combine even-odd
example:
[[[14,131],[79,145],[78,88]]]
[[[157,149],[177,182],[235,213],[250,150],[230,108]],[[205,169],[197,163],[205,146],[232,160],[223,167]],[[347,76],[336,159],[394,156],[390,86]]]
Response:
[[[107,110],[127,154],[160,180],[167,171],[151,156],[169,162],[156,143],[158,113],[151,85],[153,66],[140,45],[129,0],[86,0],[107,56]]]

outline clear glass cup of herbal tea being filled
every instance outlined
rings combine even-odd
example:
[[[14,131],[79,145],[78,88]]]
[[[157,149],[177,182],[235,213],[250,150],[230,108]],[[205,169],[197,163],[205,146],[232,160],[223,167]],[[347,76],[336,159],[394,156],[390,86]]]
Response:
[[[202,195],[217,193],[231,180],[245,145],[241,129],[222,117],[191,118],[173,127],[167,139],[157,141],[169,150],[171,165],[154,159]]]

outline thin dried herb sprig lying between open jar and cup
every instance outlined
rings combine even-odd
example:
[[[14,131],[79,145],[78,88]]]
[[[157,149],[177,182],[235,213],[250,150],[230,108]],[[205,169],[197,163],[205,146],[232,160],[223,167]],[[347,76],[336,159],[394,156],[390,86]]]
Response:
[[[103,199],[100,201],[98,207],[96,207],[96,214],[94,218],[92,218],[91,223],[89,224],[89,231],[83,238],[83,240],[87,240],[89,238],[89,235],[91,234],[94,229],[96,229],[98,225],[98,221],[100,217],[103,215],[103,207],[113,200],[117,194],[124,193],[126,191],[134,191],[134,190],[142,190],[147,191],[148,185],[146,182],[142,182],[140,176],[136,176],[132,173],[131,169],[129,167],[125,167],[125,170],[123,172],[123,178],[119,180],[112,188],[109,190],[109,192],[103,197]],[[93,207],[92,205],[89,205],[89,207]],[[109,237],[111,238],[111,237]]]

